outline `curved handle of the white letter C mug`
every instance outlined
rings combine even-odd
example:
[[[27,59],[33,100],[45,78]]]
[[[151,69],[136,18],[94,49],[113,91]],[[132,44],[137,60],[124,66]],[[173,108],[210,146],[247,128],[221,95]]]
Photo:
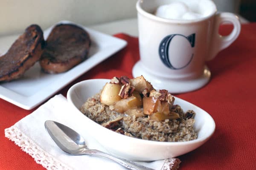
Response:
[[[230,22],[233,24],[233,31],[227,36],[221,36],[218,31],[221,23]],[[207,61],[213,59],[219,51],[227,48],[232,42],[236,40],[241,31],[241,23],[239,21],[239,17],[233,13],[229,12],[221,12],[216,14],[215,23],[212,34],[212,41],[210,45],[210,55],[207,56]]]

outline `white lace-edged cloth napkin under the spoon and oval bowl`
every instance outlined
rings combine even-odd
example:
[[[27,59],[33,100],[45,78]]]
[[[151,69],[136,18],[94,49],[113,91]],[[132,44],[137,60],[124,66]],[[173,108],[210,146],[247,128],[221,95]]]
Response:
[[[32,156],[36,163],[48,170],[126,170],[119,164],[96,156],[72,156],[62,151],[44,128],[46,120],[54,120],[71,127],[85,139],[88,147],[105,151],[101,145],[83,129],[85,116],[74,112],[67,99],[56,95],[28,116],[5,130],[5,136]],[[179,159],[139,162],[156,170],[177,170]]]

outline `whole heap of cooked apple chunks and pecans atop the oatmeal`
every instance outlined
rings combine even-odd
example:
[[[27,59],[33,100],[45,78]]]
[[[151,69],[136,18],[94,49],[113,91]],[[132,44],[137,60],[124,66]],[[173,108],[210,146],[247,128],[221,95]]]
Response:
[[[167,90],[156,91],[143,76],[134,79],[113,77],[100,95],[100,102],[111,110],[136,117],[148,115],[157,121],[179,118],[179,114],[170,112],[174,100]]]

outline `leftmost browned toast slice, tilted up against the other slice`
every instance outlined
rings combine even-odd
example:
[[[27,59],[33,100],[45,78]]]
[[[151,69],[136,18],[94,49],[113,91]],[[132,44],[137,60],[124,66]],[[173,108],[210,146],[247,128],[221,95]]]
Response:
[[[44,48],[43,31],[31,25],[0,57],[0,82],[17,79],[37,62]]]

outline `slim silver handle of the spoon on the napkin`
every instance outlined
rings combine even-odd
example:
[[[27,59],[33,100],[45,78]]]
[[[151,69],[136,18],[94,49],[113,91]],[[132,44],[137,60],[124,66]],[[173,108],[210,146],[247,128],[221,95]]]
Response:
[[[105,158],[115,161],[116,163],[122,165],[123,167],[126,167],[129,170],[154,170],[149,167],[145,167],[143,165],[137,164],[133,161],[128,161],[126,159],[117,158],[116,156],[110,155],[108,153],[104,153],[104,152],[102,152],[100,150],[96,150],[96,149],[83,150],[83,153],[90,154],[90,155],[103,156]]]

